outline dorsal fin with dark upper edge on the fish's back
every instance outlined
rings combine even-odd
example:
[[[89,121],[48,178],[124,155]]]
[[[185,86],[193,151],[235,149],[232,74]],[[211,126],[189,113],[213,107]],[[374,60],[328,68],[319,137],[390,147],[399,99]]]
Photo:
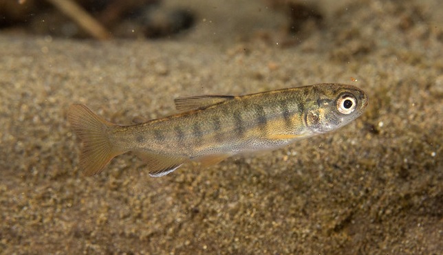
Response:
[[[235,96],[190,96],[188,98],[175,98],[175,109],[178,111],[191,111],[210,107],[214,104],[231,100]]]

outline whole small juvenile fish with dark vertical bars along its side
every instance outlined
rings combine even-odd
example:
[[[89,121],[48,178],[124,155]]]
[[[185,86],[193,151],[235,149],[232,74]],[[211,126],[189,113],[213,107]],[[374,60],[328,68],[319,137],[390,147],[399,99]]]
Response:
[[[160,177],[185,162],[216,164],[238,153],[280,148],[334,131],[363,113],[367,95],[351,85],[318,84],[246,96],[176,98],[182,111],[131,125],[107,122],[72,104],[68,120],[83,141],[80,168],[95,175],[133,151]]]

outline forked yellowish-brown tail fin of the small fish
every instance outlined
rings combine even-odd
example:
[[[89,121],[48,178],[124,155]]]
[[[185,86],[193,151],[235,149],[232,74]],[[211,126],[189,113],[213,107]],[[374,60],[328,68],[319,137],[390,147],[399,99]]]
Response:
[[[102,120],[83,104],[72,104],[67,119],[83,141],[80,168],[85,175],[96,175],[116,155],[123,153],[109,141],[109,131],[115,124]]]

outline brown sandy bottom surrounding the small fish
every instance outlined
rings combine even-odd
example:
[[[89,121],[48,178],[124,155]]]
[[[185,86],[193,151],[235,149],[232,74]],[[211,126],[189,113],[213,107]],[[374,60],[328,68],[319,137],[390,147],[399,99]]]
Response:
[[[168,40],[0,35],[0,253],[442,253],[442,4],[319,1],[323,27],[288,38],[265,3],[235,2],[191,1],[196,27]],[[365,114],[162,178],[131,153],[78,170],[74,102],[129,124],[177,96],[321,82],[367,91]]]

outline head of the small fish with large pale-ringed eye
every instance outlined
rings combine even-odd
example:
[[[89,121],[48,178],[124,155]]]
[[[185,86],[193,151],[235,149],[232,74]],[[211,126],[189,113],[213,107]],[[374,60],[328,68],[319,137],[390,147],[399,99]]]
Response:
[[[345,126],[360,116],[367,107],[366,93],[351,85],[314,85],[307,96],[303,112],[305,125],[314,134],[326,133]]]

